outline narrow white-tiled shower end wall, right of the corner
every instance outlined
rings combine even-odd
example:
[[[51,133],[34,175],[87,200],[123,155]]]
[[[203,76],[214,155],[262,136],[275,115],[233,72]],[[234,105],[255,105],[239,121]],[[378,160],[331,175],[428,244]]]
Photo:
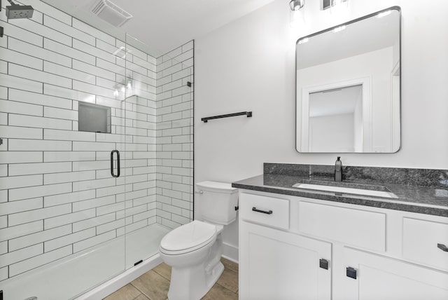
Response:
[[[193,48],[157,60],[157,221],[170,228],[193,219]]]

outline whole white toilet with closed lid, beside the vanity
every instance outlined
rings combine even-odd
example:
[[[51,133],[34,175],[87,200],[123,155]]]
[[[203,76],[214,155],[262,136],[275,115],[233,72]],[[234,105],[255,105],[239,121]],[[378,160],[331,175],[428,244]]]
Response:
[[[172,266],[169,300],[199,300],[224,271],[223,226],[237,218],[238,191],[231,184],[200,182],[195,198],[204,221],[192,221],[167,233],[160,242],[162,260]]]

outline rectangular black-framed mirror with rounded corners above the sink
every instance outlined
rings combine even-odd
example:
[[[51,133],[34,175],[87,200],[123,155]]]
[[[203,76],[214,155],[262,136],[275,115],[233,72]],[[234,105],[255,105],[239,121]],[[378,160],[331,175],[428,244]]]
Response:
[[[400,8],[304,36],[296,44],[299,152],[400,149]]]

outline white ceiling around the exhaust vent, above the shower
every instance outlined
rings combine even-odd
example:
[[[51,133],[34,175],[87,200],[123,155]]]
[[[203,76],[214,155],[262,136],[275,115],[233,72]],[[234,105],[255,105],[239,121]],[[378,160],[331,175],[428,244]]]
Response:
[[[142,50],[159,57],[274,0],[111,0],[134,16],[120,28],[90,11],[97,1],[43,0],[118,39],[130,34],[146,44]]]

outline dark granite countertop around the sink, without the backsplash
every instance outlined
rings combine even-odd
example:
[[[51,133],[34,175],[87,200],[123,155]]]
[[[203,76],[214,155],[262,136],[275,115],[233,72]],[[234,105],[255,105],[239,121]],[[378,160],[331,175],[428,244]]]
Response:
[[[309,180],[310,178],[305,176],[264,174],[244,179],[239,182],[233,182],[232,186],[238,189],[264,191],[268,193],[279,193],[283,195],[300,196],[339,203],[381,207],[389,210],[402,210],[406,212],[448,217],[448,189],[443,187],[384,184],[384,182],[377,184],[378,186],[386,187],[386,189],[395,193],[398,198],[361,196],[331,191],[311,191],[293,187],[293,184],[296,184],[297,182],[307,182]],[[362,180],[356,180],[356,182],[344,181],[341,186],[344,186],[344,184],[374,185],[371,181],[367,182]]]

